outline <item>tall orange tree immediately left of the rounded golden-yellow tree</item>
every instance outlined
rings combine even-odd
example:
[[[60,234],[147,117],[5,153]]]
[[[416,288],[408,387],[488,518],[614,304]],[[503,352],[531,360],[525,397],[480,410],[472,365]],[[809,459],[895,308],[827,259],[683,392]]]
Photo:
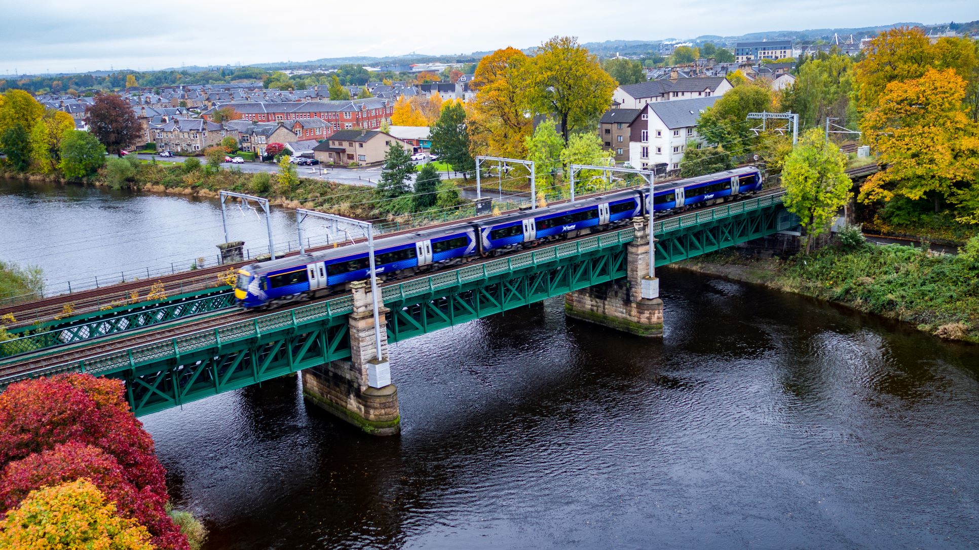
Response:
[[[477,90],[469,116],[473,155],[510,159],[527,156],[526,139],[534,131],[527,102],[530,60],[516,48],[496,50],[476,67],[470,86]]]

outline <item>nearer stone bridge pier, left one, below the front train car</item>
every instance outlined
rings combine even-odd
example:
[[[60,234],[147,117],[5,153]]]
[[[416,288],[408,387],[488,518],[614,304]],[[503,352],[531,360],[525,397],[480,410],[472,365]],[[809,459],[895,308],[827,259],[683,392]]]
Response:
[[[349,316],[350,360],[303,369],[303,396],[372,435],[400,432],[397,389],[388,363],[387,314],[379,303],[381,357],[377,359],[370,284],[351,285],[353,311]]]

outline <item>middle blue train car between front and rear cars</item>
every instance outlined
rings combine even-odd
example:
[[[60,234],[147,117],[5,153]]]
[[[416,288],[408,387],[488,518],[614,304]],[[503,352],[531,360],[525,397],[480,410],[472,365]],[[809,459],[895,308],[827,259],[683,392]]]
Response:
[[[619,224],[642,211],[639,194],[621,191],[574,203],[524,210],[477,222],[480,252],[499,254],[542,240],[576,237],[593,228]]]

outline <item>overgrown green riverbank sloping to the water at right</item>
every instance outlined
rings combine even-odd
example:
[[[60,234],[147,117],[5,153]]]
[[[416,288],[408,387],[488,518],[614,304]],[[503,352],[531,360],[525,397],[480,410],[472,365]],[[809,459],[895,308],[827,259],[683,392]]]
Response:
[[[955,255],[834,244],[788,258],[714,252],[676,267],[832,301],[939,338],[979,344],[979,238]]]

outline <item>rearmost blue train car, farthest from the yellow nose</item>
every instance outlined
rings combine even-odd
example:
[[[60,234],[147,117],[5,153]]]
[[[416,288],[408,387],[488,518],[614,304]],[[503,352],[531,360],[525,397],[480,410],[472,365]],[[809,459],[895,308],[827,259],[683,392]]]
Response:
[[[736,195],[762,190],[762,172],[757,166],[743,166],[713,174],[670,181],[653,186],[653,211],[704,206]],[[649,201],[649,188],[643,189],[643,211]]]

